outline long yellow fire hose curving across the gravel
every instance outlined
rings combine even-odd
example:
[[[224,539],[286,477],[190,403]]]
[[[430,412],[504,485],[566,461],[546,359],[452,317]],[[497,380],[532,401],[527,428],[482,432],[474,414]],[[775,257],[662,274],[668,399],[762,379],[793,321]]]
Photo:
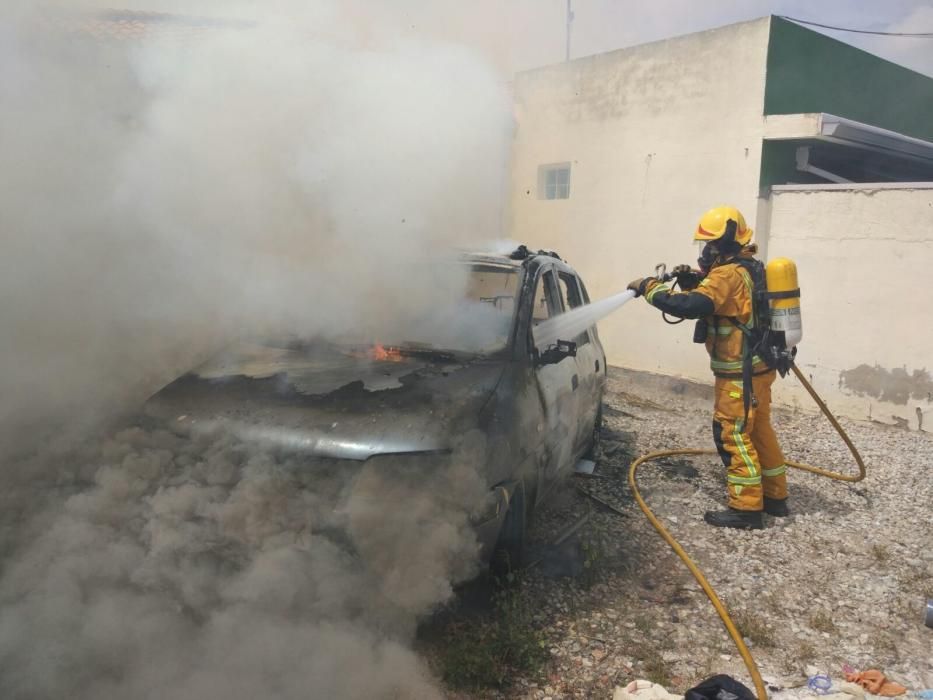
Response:
[[[814,467],[809,464],[800,464],[798,462],[788,462],[787,465],[794,467],[795,469],[802,469],[803,471],[810,472],[812,474],[818,474],[830,479],[836,479],[837,481],[861,481],[865,478],[865,463],[862,461],[862,456],[859,454],[855,445],[852,443],[852,440],[849,439],[846,431],[841,425],[839,425],[839,421],[836,420],[836,417],[830,412],[829,408],[826,406],[826,403],[823,401],[823,399],[820,398],[819,394],[816,393],[816,390],[810,385],[810,382],[806,380],[800,370],[797,369],[796,365],[791,365],[791,368],[794,370],[794,374],[797,375],[797,379],[800,380],[800,383],[803,384],[804,388],[807,390],[807,393],[810,394],[810,396],[816,402],[816,405],[820,407],[823,415],[829,419],[829,422],[832,424],[833,428],[835,428],[836,432],[839,433],[839,436],[846,443],[846,446],[849,448],[849,452],[852,453],[856,464],[858,464],[859,473],[858,475],[839,474],[837,472],[829,471],[828,469]],[[729,632],[729,636],[732,637],[732,641],[735,642],[735,646],[738,648],[739,654],[742,656],[742,661],[745,662],[745,667],[748,669],[748,672],[752,676],[752,681],[755,684],[755,692],[758,695],[758,699],[767,700],[768,693],[765,689],[764,681],[761,679],[761,673],[758,671],[758,666],[755,663],[755,660],[752,658],[752,654],[748,650],[748,647],[745,645],[745,642],[742,639],[742,635],[739,633],[735,623],[729,616],[729,612],[722,604],[719,596],[716,595],[716,591],[713,590],[713,587],[709,584],[709,581],[706,580],[706,576],[704,576],[703,572],[700,571],[700,567],[694,563],[694,561],[690,558],[690,555],[687,554],[684,551],[684,548],[680,546],[680,543],[674,539],[673,535],[667,531],[667,529],[661,524],[661,521],[658,520],[655,514],[651,512],[648,504],[645,503],[645,499],[641,497],[641,493],[638,490],[638,484],[635,479],[635,475],[638,472],[638,467],[640,467],[645,462],[660,459],[661,457],[671,457],[674,455],[716,454],[718,454],[716,450],[701,449],[661,450],[659,452],[651,452],[649,454],[642,455],[634,462],[632,462],[632,465],[629,467],[628,471],[628,483],[632,489],[632,493],[635,494],[635,501],[638,503],[638,507],[641,508],[642,512],[645,514],[645,517],[648,518],[648,521],[654,526],[654,529],[658,531],[661,537],[664,538],[664,541],[670,545],[671,549],[673,549],[677,556],[680,557],[684,564],[687,565],[687,568],[690,569],[690,573],[693,574],[693,577],[697,580],[697,583],[700,584],[700,588],[703,589],[703,592],[706,593],[707,597],[710,599],[710,602],[713,604],[713,607],[716,608],[716,612],[722,619],[722,623],[726,626],[726,631]]]

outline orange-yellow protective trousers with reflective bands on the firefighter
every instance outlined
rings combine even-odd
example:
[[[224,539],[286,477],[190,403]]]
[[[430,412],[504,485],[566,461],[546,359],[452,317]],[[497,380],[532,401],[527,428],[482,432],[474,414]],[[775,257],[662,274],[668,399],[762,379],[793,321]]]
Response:
[[[771,427],[771,384],[775,372],[752,378],[758,406],[742,401],[742,380],[716,378],[713,440],[726,465],[729,507],[761,510],[762,496],[787,498],[787,465]]]

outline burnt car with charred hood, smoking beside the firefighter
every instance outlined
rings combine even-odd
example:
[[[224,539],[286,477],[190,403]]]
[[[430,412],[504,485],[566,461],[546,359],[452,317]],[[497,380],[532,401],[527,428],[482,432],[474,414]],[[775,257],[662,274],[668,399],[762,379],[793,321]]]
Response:
[[[450,264],[463,280],[459,339],[244,343],[165,387],[144,413],[298,455],[308,470],[430,468],[465,455],[482,483],[470,507],[482,557],[514,566],[534,508],[594,449],[605,353],[595,326],[536,344],[539,324],[589,302],[556,254],[521,247]]]

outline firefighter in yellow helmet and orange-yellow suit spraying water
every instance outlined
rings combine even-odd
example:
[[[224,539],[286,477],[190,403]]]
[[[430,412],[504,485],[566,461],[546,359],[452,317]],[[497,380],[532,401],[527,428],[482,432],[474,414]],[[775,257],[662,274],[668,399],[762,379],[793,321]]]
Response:
[[[771,427],[775,370],[752,357],[743,381],[747,339],[738,323],[747,325],[753,318],[754,283],[742,264],[757,252],[751,239],[752,229],[737,209],[716,207],[703,215],[694,234],[695,241],[705,243],[700,271],[686,265],[673,270],[682,291],[655,278],[634,280],[628,288],[671,316],[700,319],[694,340],[705,342],[716,379],[713,441],[727,469],[728,488],[728,508],[708,511],[704,520],[716,527],[758,530],[762,511],[788,515],[787,466]]]

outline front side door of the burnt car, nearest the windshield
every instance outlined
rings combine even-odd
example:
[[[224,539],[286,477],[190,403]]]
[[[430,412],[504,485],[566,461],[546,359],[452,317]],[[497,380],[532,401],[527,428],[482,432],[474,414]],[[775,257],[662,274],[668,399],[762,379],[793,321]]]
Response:
[[[534,326],[563,313],[564,310],[553,266],[545,266],[539,271],[533,298],[532,327],[529,329],[531,343],[535,342]],[[539,354],[547,349],[536,345],[534,347]],[[544,435],[546,450],[541,478],[545,485],[544,490],[547,490],[561,471],[571,463],[575,454],[580,378],[576,359],[569,355],[559,362],[537,365],[534,373],[543,418],[543,425],[539,428]]]

